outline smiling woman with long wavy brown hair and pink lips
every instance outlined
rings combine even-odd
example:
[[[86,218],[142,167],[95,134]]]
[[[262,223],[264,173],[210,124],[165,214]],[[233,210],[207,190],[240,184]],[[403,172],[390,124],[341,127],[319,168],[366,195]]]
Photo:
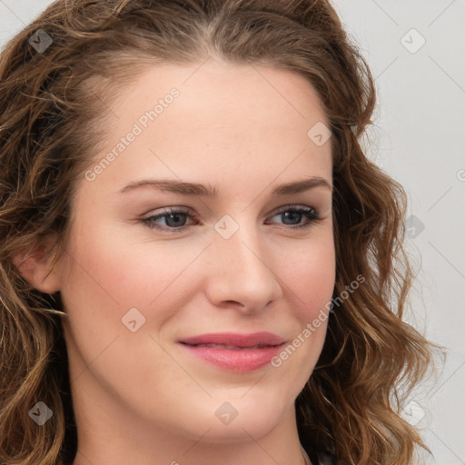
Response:
[[[57,1],[0,61],[2,463],[412,463],[431,349],[326,1]]]

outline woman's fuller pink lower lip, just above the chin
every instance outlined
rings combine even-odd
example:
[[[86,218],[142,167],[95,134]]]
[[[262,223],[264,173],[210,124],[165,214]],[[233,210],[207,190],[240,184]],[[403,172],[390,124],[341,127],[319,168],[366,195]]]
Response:
[[[209,361],[228,371],[255,371],[270,363],[282,349],[279,346],[262,347],[261,349],[227,350],[218,347],[199,347],[182,344],[195,357]]]

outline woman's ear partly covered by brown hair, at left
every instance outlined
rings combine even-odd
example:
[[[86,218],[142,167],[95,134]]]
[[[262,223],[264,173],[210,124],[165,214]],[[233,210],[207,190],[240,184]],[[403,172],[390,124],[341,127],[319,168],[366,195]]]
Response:
[[[56,272],[56,263],[52,271],[49,270],[54,256],[47,256],[54,236],[46,236],[32,249],[15,255],[13,263],[21,275],[31,286],[40,292],[54,294],[60,290],[59,273]],[[50,271],[50,273],[48,273]],[[48,273],[48,274],[47,274]]]

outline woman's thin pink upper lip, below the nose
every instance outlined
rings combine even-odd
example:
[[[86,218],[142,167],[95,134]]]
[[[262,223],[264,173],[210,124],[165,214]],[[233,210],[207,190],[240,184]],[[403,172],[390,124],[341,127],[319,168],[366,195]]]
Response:
[[[180,342],[189,345],[199,344],[222,344],[236,347],[254,347],[254,346],[277,346],[281,345],[284,340],[272,332],[252,332],[250,334],[240,334],[237,332],[216,332],[201,334],[183,338]]]

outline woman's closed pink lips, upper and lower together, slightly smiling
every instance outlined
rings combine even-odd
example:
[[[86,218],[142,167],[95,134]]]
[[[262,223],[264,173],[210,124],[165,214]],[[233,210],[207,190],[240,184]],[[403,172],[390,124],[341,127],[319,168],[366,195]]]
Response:
[[[222,332],[185,338],[180,343],[194,356],[229,371],[254,371],[270,363],[284,340],[271,332]],[[224,347],[212,347],[217,344]]]

